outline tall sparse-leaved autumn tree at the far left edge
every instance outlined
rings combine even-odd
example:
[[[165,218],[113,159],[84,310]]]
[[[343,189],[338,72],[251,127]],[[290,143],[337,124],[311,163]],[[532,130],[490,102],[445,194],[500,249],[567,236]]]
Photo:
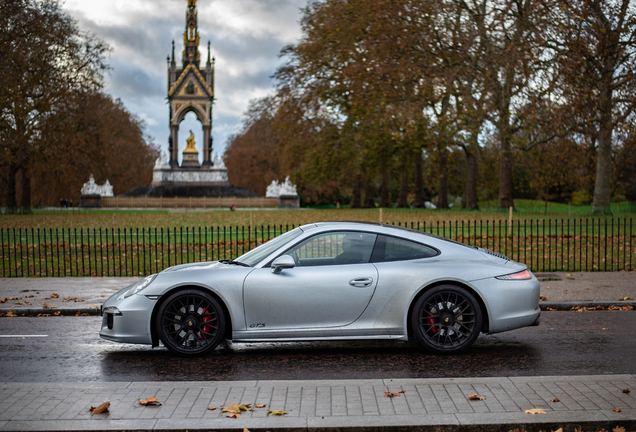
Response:
[[[30,206],[32,163],[44,150],[38,139],[43,117],[69,92],[101,86],[106,52],[57,1],[0,3],[0,165],[7,206],[17,205],[18,171],[21,204]]]

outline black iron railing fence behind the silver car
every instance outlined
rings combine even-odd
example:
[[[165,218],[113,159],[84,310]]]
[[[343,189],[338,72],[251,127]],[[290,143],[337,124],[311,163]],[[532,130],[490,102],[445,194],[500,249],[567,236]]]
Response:
[[[484,247],[535,272],[636,269],[633,218],[393,223]],[[235,258],[293,225],[0,229],[2,277],[143,276]]]

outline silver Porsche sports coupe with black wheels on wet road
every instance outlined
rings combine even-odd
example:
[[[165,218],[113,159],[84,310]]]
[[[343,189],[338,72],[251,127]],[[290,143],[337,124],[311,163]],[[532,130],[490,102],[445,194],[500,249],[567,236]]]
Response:
[[[469,348],[540,321],[524,264],[392,225],[319,222],[233,260],[170,267],[110,297],[100,336],[182,355],[235,342],[396,339]]]

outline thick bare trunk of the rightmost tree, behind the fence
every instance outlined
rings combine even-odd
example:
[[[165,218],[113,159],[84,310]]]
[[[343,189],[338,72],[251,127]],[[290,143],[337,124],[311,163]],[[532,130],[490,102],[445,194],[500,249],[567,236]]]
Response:
[[[596,180],[594,183],[593,213],[610,213],[612,177],[612,90],[603,83],[600,92],[601,124],[598,135]]]

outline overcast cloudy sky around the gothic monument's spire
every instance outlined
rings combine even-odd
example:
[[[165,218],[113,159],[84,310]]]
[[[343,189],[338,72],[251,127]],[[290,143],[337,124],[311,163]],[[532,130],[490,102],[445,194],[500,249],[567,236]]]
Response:
[[[281,48],[300,37],[301,8],[307,0],[197,0],[202,65],[207,44],[216,58],[213,152],[241,127],[251,99],[273,91],[270,76],[283,61]],[[166,57],[175,41],[181,64],[187,0],[65,0],[64,9],[113,49],[106,92],[143,119],[146,133],[168,149]],[[201,124],[190,113],[179,130],[179,153],[189,130],[202,161]],[[181,156],[181,155],[180,155]]]

